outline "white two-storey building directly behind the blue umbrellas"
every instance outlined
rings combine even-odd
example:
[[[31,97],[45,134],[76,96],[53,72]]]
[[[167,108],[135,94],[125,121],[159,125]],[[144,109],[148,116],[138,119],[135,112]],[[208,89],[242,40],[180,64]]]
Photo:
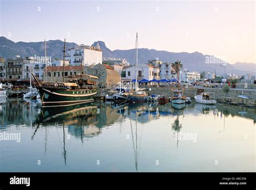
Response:
[[[140,64],[137,67],[137,78],[138,80],[157,79],[159,80],[159,68],[150,64]],[[136,79],[136,66],[130,66],[125,69],[125,77],[121,78],[124,82],[130,82],[131,79]]]

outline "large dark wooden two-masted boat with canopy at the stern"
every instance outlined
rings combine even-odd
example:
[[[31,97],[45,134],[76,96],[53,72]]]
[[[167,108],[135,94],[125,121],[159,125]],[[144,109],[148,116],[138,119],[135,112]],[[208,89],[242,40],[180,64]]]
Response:
[[[79,80],[70,80],[69,82],[64,82],[65,44],[66,39],[64,40],[63,50],[62,82],[39,83],[37,78],[32,74],[36,80],[36,88],[39,90],[43,106],[91,102],[97,93],[96,80],[98,77],[90,76],[89,74],[82,75],[82,62]]]

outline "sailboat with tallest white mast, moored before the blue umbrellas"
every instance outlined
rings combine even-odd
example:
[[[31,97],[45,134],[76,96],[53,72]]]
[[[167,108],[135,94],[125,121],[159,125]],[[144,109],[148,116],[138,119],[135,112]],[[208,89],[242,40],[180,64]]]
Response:
[[[128,100],[132,103],[138,102],[146,102],[147,101],[147,93],[144,91],[145,89],[139,89],[137,86],[138,83],[138,32],[136,33],[136,80],[135,80],[135,88],[133,91],[130,91],[128,95]]]

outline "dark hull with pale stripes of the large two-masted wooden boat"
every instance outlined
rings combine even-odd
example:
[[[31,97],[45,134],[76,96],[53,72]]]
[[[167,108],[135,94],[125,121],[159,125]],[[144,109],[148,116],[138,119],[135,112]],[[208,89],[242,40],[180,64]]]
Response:
[[[97,90],[65,90],[58,88],[38,87],[42,105],[64,105],[93,101]]]

